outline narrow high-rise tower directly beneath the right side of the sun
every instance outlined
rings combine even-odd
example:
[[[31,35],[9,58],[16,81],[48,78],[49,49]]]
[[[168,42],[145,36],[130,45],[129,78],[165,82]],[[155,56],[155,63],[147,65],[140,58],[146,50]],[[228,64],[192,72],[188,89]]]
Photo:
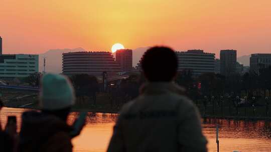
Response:
[[[132,50],[118,49],[116,51],[116,61],[119,63],[122,71],[132,70]]]

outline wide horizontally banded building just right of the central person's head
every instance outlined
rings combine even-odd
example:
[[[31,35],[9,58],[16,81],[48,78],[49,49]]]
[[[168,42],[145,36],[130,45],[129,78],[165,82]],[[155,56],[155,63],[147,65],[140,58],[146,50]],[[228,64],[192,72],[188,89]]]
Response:
[[[193,76],[215,71],[215,54],[206,53],[201,49],[177,51],[178,71],[191,69]]]

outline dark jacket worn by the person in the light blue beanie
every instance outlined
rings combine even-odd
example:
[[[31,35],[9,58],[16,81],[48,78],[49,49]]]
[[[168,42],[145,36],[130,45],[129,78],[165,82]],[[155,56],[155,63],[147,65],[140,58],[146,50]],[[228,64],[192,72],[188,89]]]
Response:
[[[37,111],[24,112],[19,151],[72,151],[72,128],[60,118]]]

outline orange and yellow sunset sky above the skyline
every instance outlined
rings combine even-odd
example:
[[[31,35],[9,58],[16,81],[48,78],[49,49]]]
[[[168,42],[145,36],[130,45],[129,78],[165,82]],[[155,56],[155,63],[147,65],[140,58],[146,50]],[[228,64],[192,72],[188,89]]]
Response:
[[[271,0],[0,0],[4,53],[156,44],[271,53]]]

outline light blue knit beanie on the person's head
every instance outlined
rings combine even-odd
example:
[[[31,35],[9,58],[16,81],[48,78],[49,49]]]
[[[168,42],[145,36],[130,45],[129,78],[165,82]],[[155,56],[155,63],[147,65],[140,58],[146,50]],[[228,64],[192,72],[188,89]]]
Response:
[[[41,86],[41,109],[57,110],[74,104],[74,89],[66,76],[47,73],[42,77]]]

